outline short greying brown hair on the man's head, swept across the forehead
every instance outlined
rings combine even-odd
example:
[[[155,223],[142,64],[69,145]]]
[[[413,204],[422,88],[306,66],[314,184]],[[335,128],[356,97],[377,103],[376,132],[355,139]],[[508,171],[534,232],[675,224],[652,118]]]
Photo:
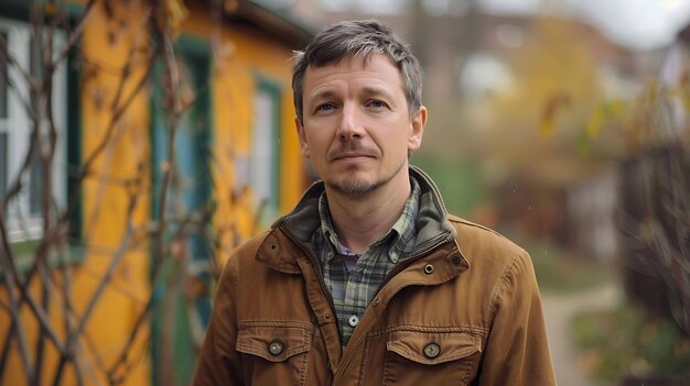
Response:
[[[422,106],[422,68],[419,60],[390,27],[375,20],[362,20],[328,25],[312,37],[304,51],[294,52],[292,96],[298,119],[302,121],[306,68],[337,64],[355,56],[368,60],[371,54],[386,54],[398,67],[412,117]]]

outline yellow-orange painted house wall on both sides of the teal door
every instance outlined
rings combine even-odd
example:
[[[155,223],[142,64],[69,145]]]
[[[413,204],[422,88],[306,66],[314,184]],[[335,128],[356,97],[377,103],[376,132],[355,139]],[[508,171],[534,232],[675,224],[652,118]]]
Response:
[[[128,58],[133,55],[131,75],[122,87],[122,99],[132,92],[149,65],[145,57],[150,44],[145,26],[148,20],[136,2],[122,2],[125,5],[120,2],[109,3],[112,5],[112,16],[107,18],[104,9],[97,7],[82,42],[86,59],[80,68],[83,159],[88,158],[106,135],[110,136],[105,151],[96,157],[94,173],[87,178],[83,190],[83,241],[86,247],[84,260],[71,272],[72,302],[77,310],[76,315],[84,312],[96,288],[103,283],[114,255],[117,255],[117,247],[126,236],[127,211],[132,197],[137,200],[131,217],[133,239],[137,241],[132,242],[117,265],[78,343],[78,355],[89,357],[88,365],[80,362],[84,364],[82,373],[89,385],[107,384],[99,366],[109,368],[119,357],[151,293],[150,245],[143,232],[144,224],[151,219],[151,167],[157,167],[150,165],[149,88],[141,89],[122,118],[116,124],[110,124],[114,99],[120,88],[121,69]],[[251,148],[251,110],[257,73],[274,81],[281,89],[281,212],[288,211],[298,201],[305,186],[305,177],[293,123],[289,62],[291,48],[266,34],[257,34],[233,24],[218,25],[205,12],[190,10],[183,33],[208,41],[213,47],[212,172],[215,187],[213,196],[217,201],[214,225],[223,241],[218,257],[225,261],[229,250],[239,240],[254,234],[258,228],[249,209],[251,192],[234,192],[233,162],[235,156],[248,155]],[[109,128],[111,131],[108,134]],[[137,181],[137,178],[140,178],[139,185],[125,184]],[[56,277],[54,285],[61,285],[61,277]],[[32,291],[39,294],[39,280],[34,284]],[[55,288],[52,290],[57,293]],[[0,300],[7,304],[3,290],[0,291]],[[62,299],[56,299],[51,306],[51,318],[60,327],[64,339],[62,307]],[[8,317],[7,312],[0,313],[0,331],[8,331]],[[32,318],[32,313],[24,307],[22,327],[33,348],[37,324]],[[149,339],[150,327],[147,326],[136,340],[136,346],[140,349],[134,357],[129,357],[136,364],[123,385],[150,384],[152,366],[147,346]],[[138,355],[143,355],[143,360],[138,360]],[[0,384],[25,384],[18,352],[10,354],[8,361],[7,368],[12,371],[6,371]],[[42,384],[52,378],[56,362],[55,350],[47,350]],[[64,385],[76,384],[72,368],[68,368],[63,379]]]

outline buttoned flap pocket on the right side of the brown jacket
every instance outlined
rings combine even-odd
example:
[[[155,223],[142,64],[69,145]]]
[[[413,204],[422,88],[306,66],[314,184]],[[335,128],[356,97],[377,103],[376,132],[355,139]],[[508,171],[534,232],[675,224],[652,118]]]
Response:
[[[465,385],[476,373],[481,342],[470,332],[393,331],[384,385]]]

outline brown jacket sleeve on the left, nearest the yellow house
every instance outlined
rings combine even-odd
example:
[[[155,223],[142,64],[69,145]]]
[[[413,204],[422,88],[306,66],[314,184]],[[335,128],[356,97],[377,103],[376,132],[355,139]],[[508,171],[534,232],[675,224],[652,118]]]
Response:
[[[192,378],[194,386],[244,385],[240,359],[235,351],[238,278],[236,257],[230,256],[218,280],[211,322]]]

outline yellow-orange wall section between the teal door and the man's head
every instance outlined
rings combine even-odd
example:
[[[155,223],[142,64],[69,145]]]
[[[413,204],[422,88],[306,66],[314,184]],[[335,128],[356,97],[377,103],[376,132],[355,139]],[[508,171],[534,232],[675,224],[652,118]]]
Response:
[[[227,199],[237,188],[234,159],[247,156],[251,150],[257,74],[274,81],[281,90],[280,212],[292,209],[305,186],[292,103],[292,48],[246,26],[220,26],[202,10],[190,10],[183,30],[192,36],[209,41],[214,47],[213,137],[214,158],[218,161],[213,170],[214,194],[218,199],[214,224],[222,232],[223,247],[218,257],[224,261],[237,240],[266,227],[252,221],[250,191],[236,195],[235,200]]]

